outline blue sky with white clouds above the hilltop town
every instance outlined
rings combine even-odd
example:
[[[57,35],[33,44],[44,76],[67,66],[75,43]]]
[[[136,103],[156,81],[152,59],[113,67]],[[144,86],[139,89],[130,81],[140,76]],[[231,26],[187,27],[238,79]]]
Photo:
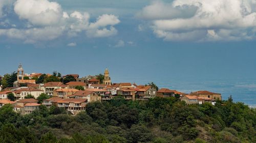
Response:
[[[253,0],[0,0],[0,75],[22,63],[162,86],[256,78],[255,33]]]

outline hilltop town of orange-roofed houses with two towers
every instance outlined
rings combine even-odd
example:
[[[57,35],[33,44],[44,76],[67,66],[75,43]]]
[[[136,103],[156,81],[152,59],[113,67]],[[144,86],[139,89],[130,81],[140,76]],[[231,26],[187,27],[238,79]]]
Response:
[[[145,85],[130,82],[112,83],[108,69],[105,69],[104,74],[79,78],[78,74],[61,76],[56,72],[25,74],[23,66],[19,65],[17,74],[14,72],[13,75],[0,78],[0,107],[9,103],[13,105],[14,111],[22,114],[31,113],[42,104],[48,108],[62,107],[75,115],[86,110],[86,105],[90,102],[104,102],[115,97],[133,101],[147,101],[154,97],[176,97],[186,104],[208,102],[212,105],[215,105],[216,100],[221,100],[221,94],[218,93],[194,91],[186,94],[166,88],[158,89],[153,82]],[[5,84],[10,78],[13,84]]]

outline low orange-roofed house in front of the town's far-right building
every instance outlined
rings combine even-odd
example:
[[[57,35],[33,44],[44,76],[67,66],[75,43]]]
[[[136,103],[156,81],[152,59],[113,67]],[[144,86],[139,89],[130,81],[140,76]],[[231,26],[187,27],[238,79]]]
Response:
[[[181,101],[185,101],[186,104],[204,104],[206,102],[215,105],[215,100],[208,97],[198,97],[194,95],[185,95],[181,97]]]

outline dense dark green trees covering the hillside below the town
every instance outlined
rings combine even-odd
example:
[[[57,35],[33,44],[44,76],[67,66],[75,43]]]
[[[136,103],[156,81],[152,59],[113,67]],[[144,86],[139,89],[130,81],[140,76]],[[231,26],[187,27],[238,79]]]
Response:
[[[185,105],[177,98],[87,105],[69,115],[52,106],[21,116],[0,108],[0,142],[256,142],[256,111],[243,103]]]

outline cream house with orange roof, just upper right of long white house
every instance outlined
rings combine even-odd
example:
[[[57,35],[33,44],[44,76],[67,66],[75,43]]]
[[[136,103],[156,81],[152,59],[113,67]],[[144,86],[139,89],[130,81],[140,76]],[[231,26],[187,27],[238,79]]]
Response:
[[[46,95],[53,96],[53,91],[56,89],[67,89],[67,85],[62,82],[47,82],[41,86],[41,89]]]

